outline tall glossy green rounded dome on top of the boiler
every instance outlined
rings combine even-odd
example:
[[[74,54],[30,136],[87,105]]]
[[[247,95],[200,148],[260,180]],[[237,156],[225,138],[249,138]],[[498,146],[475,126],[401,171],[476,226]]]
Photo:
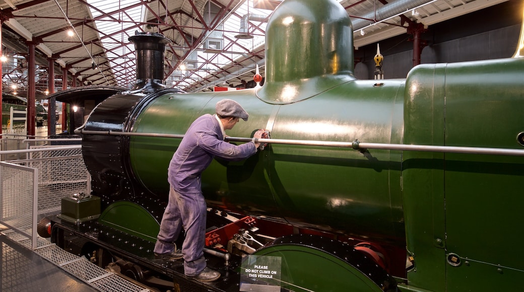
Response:
[[[351,21],[335,1],[283,2],[266,36],[266,81],[257,96],[267,103],[294,103],[355,79]]]

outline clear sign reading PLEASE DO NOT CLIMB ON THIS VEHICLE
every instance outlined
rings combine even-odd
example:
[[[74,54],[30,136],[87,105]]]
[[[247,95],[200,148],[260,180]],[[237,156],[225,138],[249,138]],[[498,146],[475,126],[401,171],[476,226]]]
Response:
[[[240,291],[280,291],[282,258],[248,255],[242,262]]]

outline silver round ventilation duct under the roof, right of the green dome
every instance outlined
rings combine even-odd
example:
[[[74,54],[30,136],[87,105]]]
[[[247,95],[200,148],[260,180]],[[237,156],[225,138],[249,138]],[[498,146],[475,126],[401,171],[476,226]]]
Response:
[[[406,13],[411,9],[429,4],[435,0],[395,0],[392,1],[375,11],[372,11],[368,14],[359,16],[362,18],[351,18],[351,23],[353,24],[353,31],[361,30],[362,28],[383,21],[392,16],[396,16],[402,13]],[[374,19],[371,21],[369,19]]]

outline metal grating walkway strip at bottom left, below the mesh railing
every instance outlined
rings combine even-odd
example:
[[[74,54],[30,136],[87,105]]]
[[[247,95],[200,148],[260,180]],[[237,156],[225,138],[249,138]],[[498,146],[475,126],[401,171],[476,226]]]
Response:
[[[29,238],[25,237],[25,235],[20,234],[18,232],[8,230],[2,232],[2,235],[4,235],[9,240],[12,240],[13,242],[16,242],[24,248],[30,249],[31,241]],[[6,248],[3,248],[3,251],[5,252]],[[64,271],[67,271],[69,274],[71,274],[73,277],[76,277],[80,280],[82,280],[85,283],[88,283],[90,286],[96,288],[99,291],[107,291],[107,292],[147,292],[150,291],[149,289],[145,289],[143,287],[140,287],[132,282],[129,282],[128,280],[118,276],[117,274],[107,272],[105,269],[89,262],[85,257],[79,257],[77,255],[71,254],[67,251],[62,250],[58,246],[56,246],[53,243],[48,242],[45,239],[38,238],[38,248],[35,250],[35,253],[43,257],[44,259],[48,260],[49,262],[61,267],[64,269]],[[10,263],[14,261],[12,256],[7,256],[6,259],[3,259],[2,265],[4,266],[4,263]],[[16,263],[14,263],[16,265]],[[31,262],[29,262],[29,265]],[[15,268],[16,271],[14,271],[13,275],[16,275],[17,273],[30,273],[26,270],[25,267],[21,268]],[[2,268],[2,275],[4,277],[4,273],[6,273],[5,268]],[[8,274],[6,274],[8,275]],[[15,277],[16,278],[16,277]],[[4,283],[2,283],[2,288],[0,290],[40,290],[38,287],[38,284],[36,287],[32,287],[31,283],[32,281],[20,281],[21,284],[24,284],[24,287],[19,287],[18,283],[7,283],[4,287]],[[29,286],[28,286],[29,285]],[[16,289],[9,289],[9,287],[16,286]]]

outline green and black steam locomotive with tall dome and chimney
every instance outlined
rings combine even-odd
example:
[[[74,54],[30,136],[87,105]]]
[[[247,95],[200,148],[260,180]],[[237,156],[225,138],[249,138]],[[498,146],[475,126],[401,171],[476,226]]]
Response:
[[[521,288],[524,59],[357,80],[351,21],[334,0],[284,1],[266,35],[264,86],[194,94],[162,84],[168,39],[130,37],[136,86],[77,129],[92,193],[73,207],[65,199],[41,235],[159,290]],[[216,159],[202,174],[205,254],[222,275],[203,284],[152,249],[171,156],[224,98],[250,114],[230,142],[260,128],[270,138],[249,159]]]

